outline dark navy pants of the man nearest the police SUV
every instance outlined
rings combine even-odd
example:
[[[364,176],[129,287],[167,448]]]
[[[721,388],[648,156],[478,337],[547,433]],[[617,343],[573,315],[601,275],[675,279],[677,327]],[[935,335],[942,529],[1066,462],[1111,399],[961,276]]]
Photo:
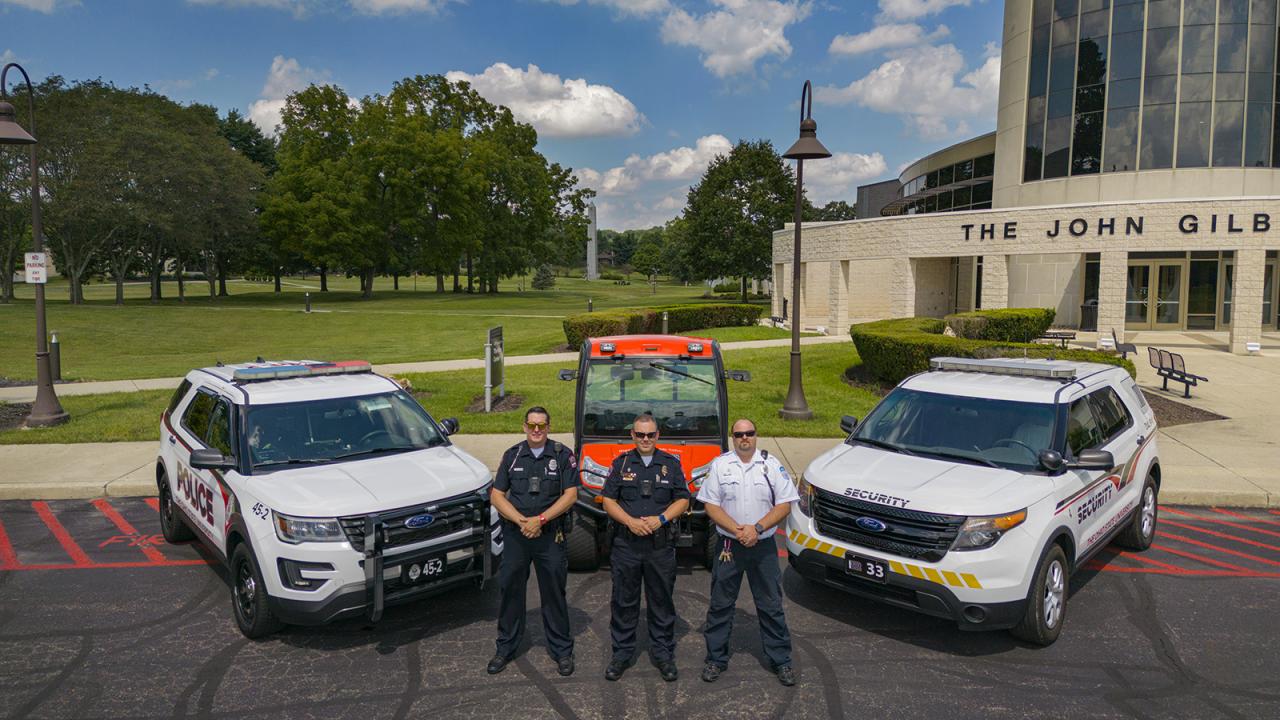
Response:
[[[573,635],[568,628],[568,601],[564,588],[568,583],[568,556],[564,544],[556,542],[553,527],[543,528],[543,534],[529,539],[520,528],[503,520],[502,565],[498,587],[502,601],[498,607],[498,655],[511,657],[525,634],[525,593],[529,587],[529,564],[538,573],[538,594],[543,602],[543,630],[547,633],[547,651],[556,660],[573,655]]]

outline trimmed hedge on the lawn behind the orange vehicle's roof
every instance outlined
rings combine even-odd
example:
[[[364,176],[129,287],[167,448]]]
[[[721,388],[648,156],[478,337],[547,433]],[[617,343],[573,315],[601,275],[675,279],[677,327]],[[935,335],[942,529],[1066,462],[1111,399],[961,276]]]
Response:
[[[564,338],[570,347],[589,337],[645,334],[662,332],[662,313],[667,311],[667,332],[682,333],[730,325],[754,325],[764,314],[760,305],[705,304],[664,305],[600,310],[564,318]]]

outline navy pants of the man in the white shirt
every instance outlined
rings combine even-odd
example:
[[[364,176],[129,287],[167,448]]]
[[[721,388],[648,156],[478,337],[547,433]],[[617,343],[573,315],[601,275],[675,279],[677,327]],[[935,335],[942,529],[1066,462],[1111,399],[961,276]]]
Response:
[[[712,530],[714,532],[714,530]],[[751,585],[755,614],[760,619],[760,644],[774,669],[791,665],[791,632],[782,615],[782,570],[778,568],[778,546],[773,536],[745,547],[736,539],[728,543],[733,559],[716,559],[712,568],[712,602],[707,609],[707,662],[728,667],[728,641],[733,633],[733,612],[742,575]]]

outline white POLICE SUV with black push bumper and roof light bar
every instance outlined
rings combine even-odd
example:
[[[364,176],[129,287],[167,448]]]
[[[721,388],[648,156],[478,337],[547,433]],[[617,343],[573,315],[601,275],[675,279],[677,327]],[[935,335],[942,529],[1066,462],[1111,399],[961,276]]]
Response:
[[[366,614],[493,577],[490,473],[364,361],[250,363],[187,374],[160,420],[169,542],[230,568],[244,635]]]

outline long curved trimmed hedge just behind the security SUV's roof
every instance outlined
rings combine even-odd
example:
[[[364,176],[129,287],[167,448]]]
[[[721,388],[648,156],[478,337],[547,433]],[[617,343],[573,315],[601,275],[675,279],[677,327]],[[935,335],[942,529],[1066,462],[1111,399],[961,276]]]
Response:
[[[1137,378],[1129,360],[1097,350],[1062,350],[1030,342],[970,340],[942,334],[947,324],[937,318],[899,318],[860,323],[849,328],[863,365],[877,379],[897,384],[929,369],[932,357],[1051,357],[1119,365]]]

